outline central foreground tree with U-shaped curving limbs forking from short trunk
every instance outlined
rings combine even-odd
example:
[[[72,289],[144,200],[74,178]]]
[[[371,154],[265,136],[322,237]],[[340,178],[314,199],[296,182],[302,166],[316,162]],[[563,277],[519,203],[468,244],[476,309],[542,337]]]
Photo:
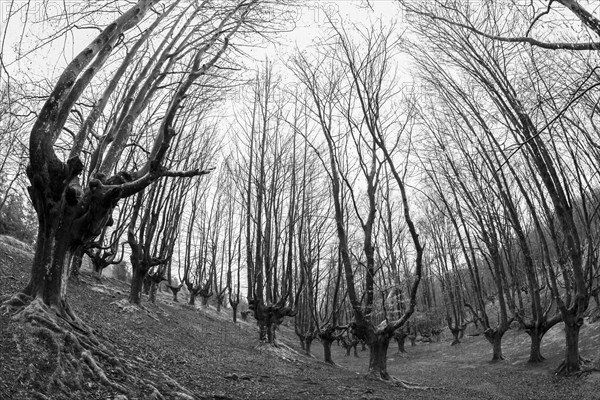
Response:
[[[422,271],[423,247],[411,218],[404,176],[395,164],[399,139],[392,144],[388,143],[391,126],[400,132],[410,131],[404,128],[410,127],[411,116],[396,119],[397,116],[394,115],[396,121],[401,120],[403,123],[398,122],[398,125],[395,125],[391,122],[390,99],[395,87],[391,71],[393,49],[397,44],[393,29],[372,26],[362,31],[363,40],[357,43],[350,39],[343,28],[336,26],[332,21],[330,24],[334,43],[327,46],[328,53],[322,54],[316,60],[310,60],[304,54],[298,55],[294,73],[309,91],[313,100],[313,118],[319,123],[329,150],[327,172],[331,179],[339,248],[353,315],[353,333],[369,346],[369,373],[377,378],[390,379],[387,372],[387,349],[396,329],[403,326],[414,312]],[[339,118],[340,116],[342,118]],[[373,313],[375,276],[374,268],[369,266],[370,254],[373,253],[372,249],[368,248],[369,245],[372,246],[368,228],[370,221],[374,220],[374,217],[371,219],[371,213],[374,215],[375,212],[373,206],[367,208],[367,217],[361,221],[364,233],[363,250],[367,259],[364,272],[364,301],[357,292],[357,285],[362,282],[358,278],[360,273],[355,272],[353,268],[346,227],[348,213],[342,208],[344,181],[340,174],[340,154],[343,152],[340,153],[338,124],[345,125],[341,133],[355,132],[355,144],[372,151],[372,156],[359,161],[364,171],[371,172],[366,173],[367,181],[372,180],[368,183],[367,202],[375,203],[371,197],[376,191],[376,187],[372,185],[376,174],[372,171],[380,168],[378,163],[381,159],[390,168],[400,191],[403,216],[414,245],[416,266],[406,311],[393,321],[378,321]],[[394,134],[401,137],[398,131],[394,130]]]

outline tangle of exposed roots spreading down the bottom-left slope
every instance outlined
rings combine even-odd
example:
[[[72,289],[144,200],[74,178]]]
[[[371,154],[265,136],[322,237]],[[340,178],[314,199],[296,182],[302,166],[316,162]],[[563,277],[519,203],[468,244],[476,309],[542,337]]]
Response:
[[[22,359],[35,360],[18,377],[34,398],[82,399],[89,391],[108,390],[129,398],[162,400],[159,383],[160,388],[173,387],[191,397],[173,379],[152,376],[154,371],[143,360],[119,357],[108,340],[97,337],[70,311],[60,317],[41,300],[20,293],[0,305],[0,314],[10,317],[8,332]],[[141,370],[145,377],[134,373]]]

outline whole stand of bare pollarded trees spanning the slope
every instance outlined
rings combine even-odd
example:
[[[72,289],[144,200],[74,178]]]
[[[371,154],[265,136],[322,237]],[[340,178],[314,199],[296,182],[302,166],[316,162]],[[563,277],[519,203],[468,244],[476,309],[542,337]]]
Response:
[[[494,360],[517,322],[530,361],[541,361],[544,334],[562,321],[560,368],[578,370],[600,273],[595,44],[561,53],[565,69],[524,51],[531,40],[495,31],[503,19],[528,37],[552,7],[525,20],[514,4],[434,3],[404,5],[420,17],[405,37],[395,24],[346,30],[329,19],[319,46],[267,61],[234,107],[231,142],[211,119],[233,86],[231,43],[281,4],[123,10],[68,65],[31,127],[39,230],[28,301],[81,325],[69,275],[84,254],[99,276],[127,253],[132,303],[144,281],[154,298],[167,280],[175,299],[185,285],[191,304],[229,302],[235,320],[246,297],[261,340],[294,317],[305,349],[319,338],[332,362],[331,343],[350,331],[383,379],[390,340],[417,309],[433,316],[428,329],[445,320],[454,343],[473,323]],[[594,32],[591,14],[571,10]],[[398,72],[406,45],[409,88]],[[22,135],[13,126],[3,119]],[[6,193],[22,175],[11,165]]]

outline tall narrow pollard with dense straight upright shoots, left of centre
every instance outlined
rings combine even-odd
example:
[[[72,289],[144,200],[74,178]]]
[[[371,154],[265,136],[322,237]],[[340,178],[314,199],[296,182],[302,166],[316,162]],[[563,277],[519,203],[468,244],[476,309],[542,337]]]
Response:
[[[249,137],[246,181],[248,304],[261,341],[274,343],[275,329],[295,315],[302,285],[294,285],[297,158],[295,130],[286,125],[285,97],[268,60],[253,81],[253,102],[242,126]],[[287,140],[289,139],[289,140]],[[294,290],[296,289],[296,290]]]

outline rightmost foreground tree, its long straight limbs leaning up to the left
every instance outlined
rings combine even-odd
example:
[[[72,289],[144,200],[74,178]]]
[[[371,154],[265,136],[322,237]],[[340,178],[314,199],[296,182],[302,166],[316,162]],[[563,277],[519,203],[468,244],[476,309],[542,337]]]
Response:
[[[569,3],[573,3],[572,5],[575,7],[572,10],[581,11],[576,2]],[[457,7],[457,5],[455,6]],[[565,361],[559,367],[559,372],[577,371],[580,369],[578,335],[583,324],[583,315],[589,303],[588,276],[596,256],[593,248],[594,241],[589,236],[589,231],[578,229],[575,220],[576,208],[573,204],[575,188],[572,186],[573,180],[569,178],[569,175],[570,166],[576,161],[569,157],[569,151],[558,150],[560,145],[557,140],[553,140],[553,135],[556,132],[565,131],[561,123],[563,116],[585,95],[587,90],[594,87],[594,84],[590,83],[587,77],[582,78],[579,75],[575,90],[564,102],[561,102],[559,110],[557,110],[556,102],[553,101],[548,102],[549,106],[545,102],[538,104],[529,102],[527,97],[519,93],[514,81],[511,80],[511,76],[513,76],[511,68],[519,63],[516,59],[510,58],[510,49],[503,44],[503,41],[490,40],[485,35],[473,36],[473,30],[469,27],[460,27],[460,25],[449,23],[457,17],[458,8],[456,7],[444,11],[444,14],[438,14],[438,16],[443,15],[443,19],[432,20],[428,17],[420,20],[421,23],[416,24],[416,27],[423,37],[428,38],[428,43],[444,55],[450,65],[464,71],[470,77],[470,82],[484,91],[489,99],[489,104],[501,116],[501,125],[508,128],[507,139],[514,143],[516,150],[504,160],[490,159],[494,164],[500,165],[489,176],[489,179],[495,181],[496,187],[505,187],[503,175],[499,173],[499,170],[509,163],[514,163],[512,158],[516,157],[517,153],[522,155],[521,160],[527,165],[527,179],[534,182],[535,191],[533,193],[540,199],[536,208],[539,215],[543,215],[547,221],[546,226],[552,227],[550,231],[553,235],[551,247],[554,248],[553,251],[556,254],[561,255],[558,257],[558,265],[550,263],[547,267],[549,285],[557,300],[557,307],[561,312],[567,332],[567,351]],[[486,5],[486,7],[490,7],[490,5]],[[471,11],[464,8],[460,10],[463,13],[460,18],[468,18],[473,15]],[[497,20],[501,12],[501,10],[496,10],[490,15]],[[426,23],[426,21],[433,23]],[[480,23],[483,22],[480,21]],[[535,70],[538,60],[536,54],[532,53],[531,57],[524,59],[522,64],[533,65],[532,70]],[[503,64],[503,62],[507,62],[507,64]],[[577,74],[577,72],[574,73]],[[593,75],[593,72],[591,74]],[[533,87],[535,88],[534,92],[537,93],[540,93],[539,89],[542,89],[546,95],[550,94],[547,86],[536,87],[529,84],[529,81],[530,77],[523,77],[523,86]],[[543,85],[544,81],[541,82]],[[455,88],[453,90],[456,92]],[[467,106],[469,106],[468,104]],[[485,133],[485,125],[481,124],[480,118],[476,116],[475,121],[484,127],[482,132]],[[487,123],[492,124],[492,122]],[[553,132],[553,135],[546,136],[547,131]],[[494,136],[496,135],[487,135],[488,138]],[[575,182],[577,181],[580,180],[576,179]],[[511,205],[514,201],[502,194],[506,193],[505,188],[498,193],[504,197],[503,202],[507,207],[508,215],[514,215],[510,220],[513,221],[513,228],[517,231],[517,236],[521,236],[519,243],[523,248],[526,241],[523,240],[524,236],[518,233],[523,229],[516,223],[518,216],[515,215],[514,206]],[[568,266],[566,260],[569,260]],[[566,292],[561,291],[558,289],[558,285],[555,285],[557,271],[561,276],[560,279],[569,282],[566,285],[568,288]],[[535,290],[535,287],[532,290]],[[542,314],[539,315],[542,317]],[[536,335],[539,337],[539,333]]]

